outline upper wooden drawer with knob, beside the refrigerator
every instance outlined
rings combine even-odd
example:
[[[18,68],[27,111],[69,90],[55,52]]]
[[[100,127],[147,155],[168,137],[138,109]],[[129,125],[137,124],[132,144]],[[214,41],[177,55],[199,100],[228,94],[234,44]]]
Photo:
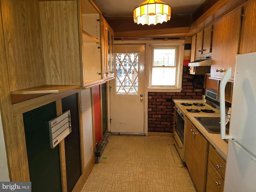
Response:
[[[213,166],[225,178],[226,162],[224,159],[214,150],[212,146],[209,148],[208,164],[212,162]]]

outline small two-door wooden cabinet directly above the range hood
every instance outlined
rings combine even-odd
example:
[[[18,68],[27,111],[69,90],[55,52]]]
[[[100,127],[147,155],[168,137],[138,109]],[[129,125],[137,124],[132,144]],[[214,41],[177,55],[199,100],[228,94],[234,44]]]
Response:
[[[208,26],[196,35],[196,57],[212,52],[212,26]]]

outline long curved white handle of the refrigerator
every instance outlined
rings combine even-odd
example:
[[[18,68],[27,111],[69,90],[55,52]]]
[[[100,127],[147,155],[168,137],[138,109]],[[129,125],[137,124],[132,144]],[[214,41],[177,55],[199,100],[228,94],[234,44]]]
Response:
[[[220,137],[222,139],[232,139],[232,136],[226,136],[226,112],[225,112],[225,87],[231,78],[231,67],[229,67],[224,73],[222,80],[220,81]]]

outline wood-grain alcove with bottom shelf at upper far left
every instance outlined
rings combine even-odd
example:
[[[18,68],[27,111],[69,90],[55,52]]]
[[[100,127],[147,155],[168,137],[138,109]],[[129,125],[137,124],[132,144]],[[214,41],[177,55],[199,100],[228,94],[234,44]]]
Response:
[[[77,2],[0,3],[11,93],[53,93],[80,87]]]

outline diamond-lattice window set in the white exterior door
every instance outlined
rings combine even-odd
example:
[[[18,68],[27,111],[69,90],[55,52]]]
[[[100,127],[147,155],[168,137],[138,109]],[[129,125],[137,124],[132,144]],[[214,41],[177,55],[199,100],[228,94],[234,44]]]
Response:
[[[116,54],[116,93],[138,94],[138,53]]]

